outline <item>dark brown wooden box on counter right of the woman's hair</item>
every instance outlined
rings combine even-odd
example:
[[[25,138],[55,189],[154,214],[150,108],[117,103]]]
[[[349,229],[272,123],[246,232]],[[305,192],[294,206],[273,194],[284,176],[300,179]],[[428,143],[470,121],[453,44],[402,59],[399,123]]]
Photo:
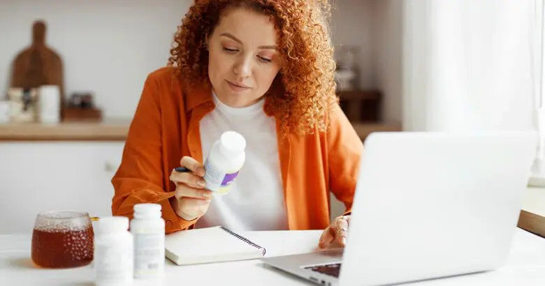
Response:
[[[382,93],[375,90],[337,91],[341,109],[349,121],[379,122],[382,120]]]

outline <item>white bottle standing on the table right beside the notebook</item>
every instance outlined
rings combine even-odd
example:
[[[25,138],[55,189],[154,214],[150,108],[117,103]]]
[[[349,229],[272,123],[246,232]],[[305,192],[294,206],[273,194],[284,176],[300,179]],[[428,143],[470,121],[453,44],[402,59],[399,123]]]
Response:
[[[131,232],[134,237],[134,278],[163,278],[165,221],[161,218],[161,204],[135,204]]]

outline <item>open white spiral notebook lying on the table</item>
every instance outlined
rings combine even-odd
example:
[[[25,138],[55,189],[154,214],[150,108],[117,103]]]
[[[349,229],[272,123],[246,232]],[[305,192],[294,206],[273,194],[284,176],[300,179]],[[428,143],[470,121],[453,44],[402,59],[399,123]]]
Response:
[[[165,236],[165,256],[177,265],[257,259],[265,248],[225,227],[189,229]]]

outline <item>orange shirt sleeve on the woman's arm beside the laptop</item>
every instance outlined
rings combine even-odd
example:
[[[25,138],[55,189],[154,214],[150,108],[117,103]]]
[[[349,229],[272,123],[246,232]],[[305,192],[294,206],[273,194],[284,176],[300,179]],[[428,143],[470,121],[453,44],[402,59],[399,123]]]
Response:
[[[339,105],[330,114],[327,142],[330,190],[344,203],[348,214],[354,202],[363,142]]]

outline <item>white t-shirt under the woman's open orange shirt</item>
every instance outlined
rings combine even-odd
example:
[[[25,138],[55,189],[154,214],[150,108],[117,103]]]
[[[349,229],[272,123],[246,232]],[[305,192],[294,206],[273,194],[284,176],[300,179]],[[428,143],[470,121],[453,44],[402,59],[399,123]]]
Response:
[[[215,195],[196,227],[233,231],[288,229],[276,121],[263,111],[265,100],[235,108],[212,94],[216,108],[200,122],[203,160],[221,133],[233,130],[246,140],[246,160],[228,194]]]

